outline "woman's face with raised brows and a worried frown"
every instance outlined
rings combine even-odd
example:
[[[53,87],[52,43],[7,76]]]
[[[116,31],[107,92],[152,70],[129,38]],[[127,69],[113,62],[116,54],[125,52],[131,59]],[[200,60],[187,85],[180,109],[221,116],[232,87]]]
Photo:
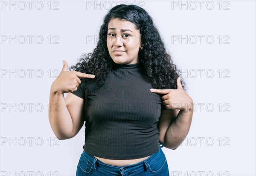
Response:
[[[139,62],[140,31],[134,23],[112,19],[108,23],[108,52],[115,63]]]

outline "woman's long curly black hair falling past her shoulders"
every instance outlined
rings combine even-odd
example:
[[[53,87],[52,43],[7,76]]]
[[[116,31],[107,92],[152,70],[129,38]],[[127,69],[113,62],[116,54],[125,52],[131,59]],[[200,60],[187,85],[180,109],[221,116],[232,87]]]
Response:
[[[114,6],[105,15],[99,32],[99,41],[93,53],[82,54],[79,63],[71,66],[70,70],[95,75],[97,85],[105,83],[107,74],[112,69],[113,60],[109,55],[107,47],[108,23],[112,19],[127,20],[134,23],[140,30],[141,46],[139,51],[143,72],[149,78],[155,89],[177,89],[177,78],[181,75],[180,70],[173,63],[171,55],[153,23],[150,15],[141,7],[136,5],[120,4]],[[83,81],[84,78],[81,78]],[[181,78],[183,89],[185,83]]]

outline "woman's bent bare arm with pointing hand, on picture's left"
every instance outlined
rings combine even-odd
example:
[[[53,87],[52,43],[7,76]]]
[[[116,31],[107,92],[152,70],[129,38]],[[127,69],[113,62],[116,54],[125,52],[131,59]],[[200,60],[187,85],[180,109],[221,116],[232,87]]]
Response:
[[[49,122],[58,139],[73,138],[84,124],[84,99],[72,93],[81,83],[79,78],[93,78],[92,75],[67,71],[64,61],[60,75],[52,83],[49,98]],[[68,93],[64,98],[64,93]]]

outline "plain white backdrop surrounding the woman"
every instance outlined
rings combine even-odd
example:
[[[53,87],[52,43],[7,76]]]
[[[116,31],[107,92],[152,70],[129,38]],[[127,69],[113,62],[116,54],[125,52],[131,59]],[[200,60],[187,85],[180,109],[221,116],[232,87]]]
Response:
[[[84,127],[59,141],[49,90],[62,69],[96,46],[104,15],[143,7],[172,52],[195,103],[186,140],[163,148],[172,176],[255,176],[254,0],[5,1],[0,9],[0,175],[76,174]]]

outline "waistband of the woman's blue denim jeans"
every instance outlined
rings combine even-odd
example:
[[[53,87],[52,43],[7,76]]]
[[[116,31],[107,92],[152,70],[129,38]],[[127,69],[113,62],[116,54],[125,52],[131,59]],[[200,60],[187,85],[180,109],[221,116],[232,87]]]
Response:
[[[124,174],[124,173],[132,172],[134,170],[138,170],[141,167],[145,167],[145,169],[148,169],[148,166],[149,166],[148,162],[151,162],[152,160],[157,159],[157,156],[162,152],[162,149],[161,149],[162,147],[163,147],[163,144],[160,144],[159,150],[156,153],[149,156],[147,159],[141,162],[138,162],[136,164],[125,165],[125,166],[114,166],[114,165],[106,164],[100,161],[99,159],[96,159],[94,156],[86,153],[85,151],[83,151],[82,155],[86,157],[88,160],[90,160],[91,163],[93,163],[92,169],[94,170],[97,170],[97,167],[100,167],[110,172]]]

